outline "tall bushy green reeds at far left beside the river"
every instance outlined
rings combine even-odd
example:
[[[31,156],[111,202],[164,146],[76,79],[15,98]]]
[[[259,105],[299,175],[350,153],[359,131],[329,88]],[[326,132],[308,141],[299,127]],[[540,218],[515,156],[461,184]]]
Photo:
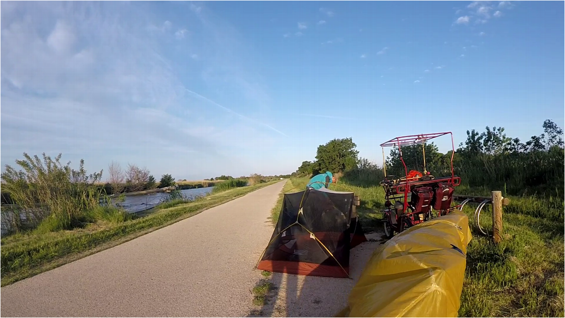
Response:
[[[2,173],[3,190],[16,204],[3,211],[7,215],[3,221],[10,223],[11,230],[35,228],[40,223],[44,231],[71,229],[81,223],[86,211],[99,206],[102,191],[95,183],[102,171],[86,175],[84,160],[78,170],[71,169],[70,163],[60,163],[60,154],[55,159],[45,154],[43,160],[25,153],[24,157],[16,160],[23,170],[6,165]]]

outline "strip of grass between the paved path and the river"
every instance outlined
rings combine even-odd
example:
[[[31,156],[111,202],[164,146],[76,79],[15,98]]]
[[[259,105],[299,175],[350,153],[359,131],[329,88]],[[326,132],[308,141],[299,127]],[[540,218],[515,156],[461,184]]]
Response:
[[[58,232],[29,232],[2,238],[0,285],[12,284],[119,245],[274,183],[276,181],[208,195],[193,202],[155,209],[149,215],[121,223],[93,224],[84,229]]]

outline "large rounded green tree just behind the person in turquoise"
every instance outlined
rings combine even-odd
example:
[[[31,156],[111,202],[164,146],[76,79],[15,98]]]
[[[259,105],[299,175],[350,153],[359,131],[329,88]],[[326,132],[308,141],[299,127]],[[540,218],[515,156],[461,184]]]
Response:
[[[313,172],[346,172],[357,167],[359,151],[356,148],[352,138],[333,139],[318,146]]]

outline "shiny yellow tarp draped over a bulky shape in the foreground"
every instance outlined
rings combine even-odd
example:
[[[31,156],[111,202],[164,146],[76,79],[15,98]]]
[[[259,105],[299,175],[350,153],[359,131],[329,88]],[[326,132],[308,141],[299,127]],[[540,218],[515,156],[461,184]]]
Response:
[[[336,317],[457,317],[470,241],[460,211],[397,234],[373,252]]]

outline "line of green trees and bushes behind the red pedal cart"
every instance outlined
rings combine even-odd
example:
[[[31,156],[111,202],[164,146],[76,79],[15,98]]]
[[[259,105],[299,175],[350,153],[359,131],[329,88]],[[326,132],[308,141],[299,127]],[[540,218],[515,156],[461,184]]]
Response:
[[[563,129],[552,120],[545,120],[544,133],[522,142],[506,136],[502,127],[486,127],[482,133],[467,130],[466,141],[460,143],[454,155],[454,173],[470,186],[504,187],[514,193],[525,188],[547,189],[563,195],[565,153]],[[293,176],[312,176],[331,171],[342,173],[350,182],[378,185],[383,167],[359,158],[351,138],[334,139],[320,145],[313,162],[304,161]],[[423,146],[403,146],[402,158],[408,171],[423,172]],[[451,175],[451,154],[440,153],[433,143],[425,144],[426,170],[434,176]],[[397,148],[385,159],[388,175],[404,176],[405,169]]]

